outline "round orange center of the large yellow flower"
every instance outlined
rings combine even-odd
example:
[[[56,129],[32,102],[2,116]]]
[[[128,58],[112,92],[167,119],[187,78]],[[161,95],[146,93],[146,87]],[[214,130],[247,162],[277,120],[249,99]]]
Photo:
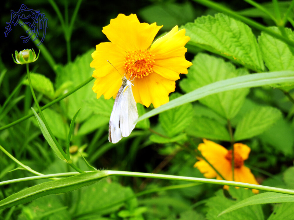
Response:
[[[125,59],[125,70],[133,74],[134,77],[143,78],[153,72],[153,63],[152,54],[148,50],[128,51]]]

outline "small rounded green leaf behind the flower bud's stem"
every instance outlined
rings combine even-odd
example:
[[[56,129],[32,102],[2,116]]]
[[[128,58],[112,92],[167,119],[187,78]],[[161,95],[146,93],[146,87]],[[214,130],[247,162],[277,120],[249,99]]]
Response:
[[[33,88],[41,92],[42,94],[46,95],[50,99],[54,99],[54,87],[50,79],[45,77],[44,75],[38,73],[30,73],[31,82]],[[29,80],[26,79],[23,82],[25,85],[29,85]]]

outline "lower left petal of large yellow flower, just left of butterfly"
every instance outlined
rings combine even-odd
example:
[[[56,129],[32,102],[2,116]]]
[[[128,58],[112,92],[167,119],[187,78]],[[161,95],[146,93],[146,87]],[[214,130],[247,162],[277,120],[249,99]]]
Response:
[[[104,77],[98,77],[94,86],[93,91],[97,93],[97,99],[103,94],[105,99],[110,99],[113,95],[116,95],[118,89],[121,87],[122,81],[121,76],[116,71],[109,73]]]

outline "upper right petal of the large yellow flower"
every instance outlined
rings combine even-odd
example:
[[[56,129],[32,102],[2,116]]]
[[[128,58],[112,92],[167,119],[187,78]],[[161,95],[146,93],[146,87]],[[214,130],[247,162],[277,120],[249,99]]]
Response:
[[[178,26],[175,26],[169,33],[158,38],[150,48],[154,60],[183,56],[187,51],[184,45],[190,40],[185,33],[185,29],[178,31]]]

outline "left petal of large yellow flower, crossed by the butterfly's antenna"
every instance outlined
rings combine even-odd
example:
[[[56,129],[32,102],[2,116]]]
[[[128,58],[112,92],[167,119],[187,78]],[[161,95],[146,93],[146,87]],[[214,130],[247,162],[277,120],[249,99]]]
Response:
[[[126,53],[121,48],[110,42],[96,45],[96,50],[92,53],[93,61],[90,64],[91,67],[95,68],[93,77],[103,77],[108,73],[113,72],[115,68],[123,76],[125,54]],[[107,60],[115,68],[109,62],[107,62]]]

